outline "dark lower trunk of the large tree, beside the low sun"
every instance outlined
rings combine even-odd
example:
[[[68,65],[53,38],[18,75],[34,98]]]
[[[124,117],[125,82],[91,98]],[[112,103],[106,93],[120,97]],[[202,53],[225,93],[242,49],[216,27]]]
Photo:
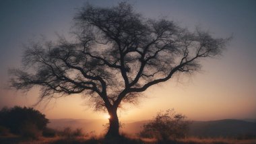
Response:
[[[117,108],[112,108],[108,110],[109,118],[109,128],[106,137],[119,137],[119,119],[117,117]]]

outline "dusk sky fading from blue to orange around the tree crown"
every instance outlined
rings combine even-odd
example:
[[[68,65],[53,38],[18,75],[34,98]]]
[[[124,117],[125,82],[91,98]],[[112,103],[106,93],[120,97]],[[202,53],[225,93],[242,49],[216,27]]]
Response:
[[[8,87],[8,69],[21,67],[22,45],[44,36],[69,36],[73,16],[85,3],[111,7],[120,1],[0,0],[0,108],[32,106],[38,89],[22,93]],[[130,0],[145,17],[166,17],[180,26],[209,30],[215,37],[233,36],[218,59],[203,61],[189,77],[171,79],[150,87],[137,105],[125,104],[121,120],[147,120],[156,112],[174,108],[191,120],[256,118],[256,1]],[[101,119],[79,94],[35,107],[46,118]]]

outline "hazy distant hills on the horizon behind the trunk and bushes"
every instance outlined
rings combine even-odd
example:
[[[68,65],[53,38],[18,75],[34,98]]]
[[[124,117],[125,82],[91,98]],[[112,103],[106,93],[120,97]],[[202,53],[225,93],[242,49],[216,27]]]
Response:
[[[121,131],[135,135],[141,131],[143,124],[149,121],[123,122]],[[104,131],[102,125],[106,124],[107,120],[51,119],[50,122],[48,126],[54,129],[82,128],[85,132],[94,131],[96,134],[101,134]],[[189,130],[189,135],[194,137],[236,137],[248,134],[256,135],[256,122],[234,119],[193,121]]]

